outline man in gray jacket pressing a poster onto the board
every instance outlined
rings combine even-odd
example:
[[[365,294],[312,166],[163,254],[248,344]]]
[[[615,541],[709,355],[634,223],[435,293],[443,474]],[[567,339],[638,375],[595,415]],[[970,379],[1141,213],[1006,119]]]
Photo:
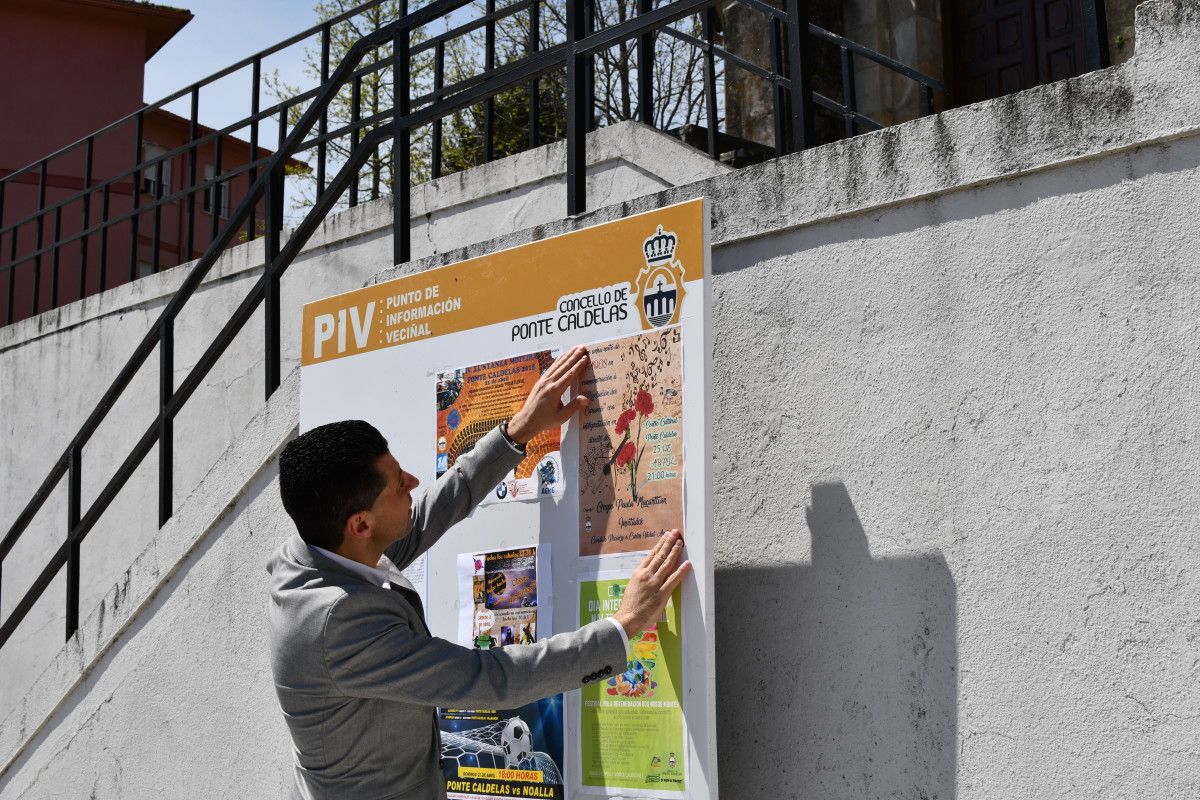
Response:
[[[629,637],[654,624],[686,576],[683,537],[664,535],[620,609],[522,646],[476,650],[430,636],[400,575],[478,505],[534,435],[587,405],[563,393],[588,365],[574,348],[522,409],[415,503],[418,481],[361,421],[298,437],[280,456],[280,493],[299,535],[271,557],[271,669],[295,750],[300,796],[444,798],[437,706],[517,708],[624,669]]]

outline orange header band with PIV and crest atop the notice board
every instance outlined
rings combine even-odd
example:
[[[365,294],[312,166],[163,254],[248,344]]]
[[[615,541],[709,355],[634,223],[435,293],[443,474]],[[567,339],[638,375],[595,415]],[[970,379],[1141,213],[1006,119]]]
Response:
[[[689,200],[317,300],[301,365],[508,323],[514,342],[630,317],[679,321],[704,277],[704,201]],[[698,302],[698,299],[696,300]]]

